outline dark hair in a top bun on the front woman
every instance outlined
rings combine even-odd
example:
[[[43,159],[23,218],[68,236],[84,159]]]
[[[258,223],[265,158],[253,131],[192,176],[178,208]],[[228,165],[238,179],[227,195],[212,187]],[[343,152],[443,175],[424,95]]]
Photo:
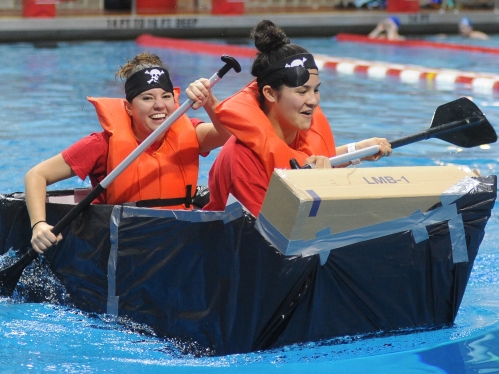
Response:
[[[284,31],[274,24],[272,21],[263,20],[251,31],[251,37],[255,41],[255,47],[258,50],[253,65],[251,66],[251,74],[257,77],[261,72],[267,69],[270,65],[283,60],[286,57],[293,56],[299,53],[308,53],[308,51],[291,43]],[[275,90],[280,90],[284,85],[283,81],[277,81],[270,84]],[[263,105],[265,99],[260,91],[260,105]]]

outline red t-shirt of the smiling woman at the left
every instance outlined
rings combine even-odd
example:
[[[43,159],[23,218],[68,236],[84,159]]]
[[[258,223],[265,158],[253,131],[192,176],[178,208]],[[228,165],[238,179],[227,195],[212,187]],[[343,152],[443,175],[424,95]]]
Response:
[[[190,118],[194,127],[203,121]],[[92,187],[99,184],[107,175],[107,152],[109,135],[105,132],[94,132],[62,151],[62,157],[75,174],[82,180],[87,176]],[[154,152],[154,149],[146,152]],[[203,156],[206,155],[203,153]]]

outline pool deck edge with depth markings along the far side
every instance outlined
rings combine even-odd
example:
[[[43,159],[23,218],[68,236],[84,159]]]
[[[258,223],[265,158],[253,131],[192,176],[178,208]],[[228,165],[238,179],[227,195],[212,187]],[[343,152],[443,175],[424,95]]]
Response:
[[[207,13],[132,15],[109,11],[58,12],[53,18],[23,18],[0,12],[0,42],[65,40],[125,40],[141,34],[176,38],[246,38],[262,19],[280,25],[290,37],[333,36],[339,32],[367,34],[389,15],[400,18],[402,35],[457,32],[461,17],[469,17],[475,29],[499,33],[499,12],[493,9],[439,12],[424,9],[418,13],[387,13],[379,10],[316,9],[283,13],[261,11],[245,15]]]

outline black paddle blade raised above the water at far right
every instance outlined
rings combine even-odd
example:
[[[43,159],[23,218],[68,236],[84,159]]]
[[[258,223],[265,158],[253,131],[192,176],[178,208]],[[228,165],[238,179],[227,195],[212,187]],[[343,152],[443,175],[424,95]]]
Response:
[[[463,121],[480,117],[481,123],[470,126]],[[497,134],[482,111],[469,99],[462,97],[441,105],[435,111],[431,121],[431,130],[438,130],[439,126],[450,122],[463,121],[462,126],[454,131],[435,132],[433,137],[444,140],[459,147],[471,148],[482,144],[495,143]]]

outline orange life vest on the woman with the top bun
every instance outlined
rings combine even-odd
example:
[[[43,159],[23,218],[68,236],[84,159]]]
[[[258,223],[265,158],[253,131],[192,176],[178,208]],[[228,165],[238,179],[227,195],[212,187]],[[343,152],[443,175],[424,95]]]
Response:
[[[269,179],[275,168],[289,169],[291,158],[303,165],[311,155],[336,155],[331,127],[319,107],[314,111],[310,128],[298,132],[296,149],[292,149],[277,136],[270,120],[260,109],[258,97],[258,85],[253,81],[222,101],[216,108],[216,114],[239,141],[257,154]]]

